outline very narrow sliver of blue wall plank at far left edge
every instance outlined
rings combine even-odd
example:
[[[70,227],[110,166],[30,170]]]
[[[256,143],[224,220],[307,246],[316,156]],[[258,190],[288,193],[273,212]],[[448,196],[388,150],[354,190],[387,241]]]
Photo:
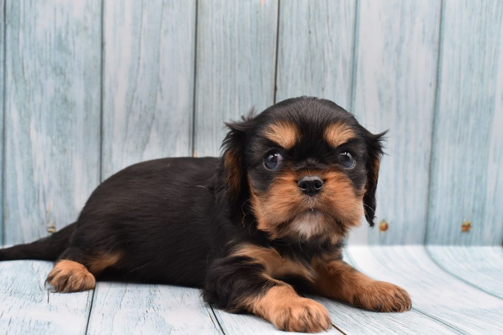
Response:
[[[0,0],[0,245],[4,243],[5,1]]]

